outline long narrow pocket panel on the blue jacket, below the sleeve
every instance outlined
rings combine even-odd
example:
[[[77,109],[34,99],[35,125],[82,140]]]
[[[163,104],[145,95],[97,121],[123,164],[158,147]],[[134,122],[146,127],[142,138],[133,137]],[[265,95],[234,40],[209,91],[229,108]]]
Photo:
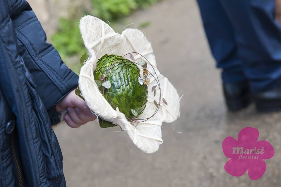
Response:
[[[21,59],[21,62],[23,63],[23,59]],[[34,83],[33,77],[26,67],[25,78],[32,101],[32,115],[38,129],[40,136],[39,139],[41,140],[40,147],[45,160],[44,170],[46,171],[46,177],[53,178],[56,176],[61,176],[63,175],[62,153],[59,147],[59,142],[52,129],[48,112],[35,90],[36,85]]]

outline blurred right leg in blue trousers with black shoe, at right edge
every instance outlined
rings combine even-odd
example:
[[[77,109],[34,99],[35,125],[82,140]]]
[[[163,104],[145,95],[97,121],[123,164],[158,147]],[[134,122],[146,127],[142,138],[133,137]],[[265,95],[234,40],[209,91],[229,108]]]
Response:
[[[275,19],[275,0],[220,2],[234,28],[257,108],[281,109],[281,26]]]

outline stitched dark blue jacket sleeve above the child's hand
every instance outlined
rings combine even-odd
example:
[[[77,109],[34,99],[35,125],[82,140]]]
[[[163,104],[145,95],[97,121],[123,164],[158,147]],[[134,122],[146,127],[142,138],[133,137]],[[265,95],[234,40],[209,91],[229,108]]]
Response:
[[[8,1],[7,1],[8,2]],[[11,1],[10,1],[11,2]],[[32,74],[36,91],[49,112],[52,124],[59,122],[55,105],[78,85],[78,76],[61,60],[29,4],[16,1],[9,6],[18,39],[18,51]]]

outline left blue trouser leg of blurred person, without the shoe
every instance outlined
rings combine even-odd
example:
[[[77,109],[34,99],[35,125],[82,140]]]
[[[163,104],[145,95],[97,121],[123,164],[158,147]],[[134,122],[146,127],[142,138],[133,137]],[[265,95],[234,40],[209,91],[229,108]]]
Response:
[[[233,27],[220,0],[197,0],[203,25],[217,67],[222,68],[224,83],[241,82],[246,78],[237,53]]]

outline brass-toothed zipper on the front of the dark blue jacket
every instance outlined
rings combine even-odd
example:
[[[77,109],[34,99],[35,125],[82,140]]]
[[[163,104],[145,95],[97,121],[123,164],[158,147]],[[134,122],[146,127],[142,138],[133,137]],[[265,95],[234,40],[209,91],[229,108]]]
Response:
[[[16,117],[13,115],[13,120],[16,120]],[[11,134],[11,149],[12,149],[12,157],[14,163],[16,165],[16,174],[18,177],[18,186],[24,187],[24,178],[23,178],[23,169],[20,164],[20,159],[17,153],[17,145],[16,145],[16,129]]]

